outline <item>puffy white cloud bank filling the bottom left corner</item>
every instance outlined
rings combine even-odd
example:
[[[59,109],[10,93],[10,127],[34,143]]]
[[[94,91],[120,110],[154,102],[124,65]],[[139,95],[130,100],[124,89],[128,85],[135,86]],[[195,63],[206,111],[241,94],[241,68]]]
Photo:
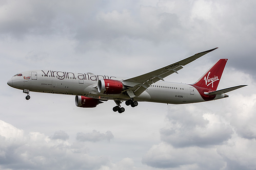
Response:
[[[76,152],[77,145],[73,147],[68,141],[51,139],[39,132],[30,132],[28,135],[24,135],[21,130],[2,120],[0,127],[1,129],[4,127],[4,131],[0,133],[0,164],[2,168],[97,169],[109,162],[106,157],[90,156],[83,152],[87,150],[82,149],[82,143],[78,147],[82,149],[82,152]],[[11,132],[11,134],[7,136],[6,132]],[[65,132],[61,133],[67,135]],[[56,137],[56,133],[54,136]],[[10,138],[12,140],[9,140]]]

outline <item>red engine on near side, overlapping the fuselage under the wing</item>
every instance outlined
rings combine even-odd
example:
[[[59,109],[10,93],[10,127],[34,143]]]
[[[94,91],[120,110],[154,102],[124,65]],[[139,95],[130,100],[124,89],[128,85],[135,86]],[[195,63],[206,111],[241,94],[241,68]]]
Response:
[[[98,82],[99,93],[120,94],[122,90],[124,90],[124,85],[121,81],[112,79],[101,79]]]

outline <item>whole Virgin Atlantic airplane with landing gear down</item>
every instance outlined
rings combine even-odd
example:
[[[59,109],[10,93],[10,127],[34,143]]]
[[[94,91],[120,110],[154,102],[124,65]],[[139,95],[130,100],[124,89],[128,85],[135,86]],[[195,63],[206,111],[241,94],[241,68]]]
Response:
[[[178,74],[185,65],[217,48],[131,78],[95,75],[90,72],[31,70],[14,75],[7,84],[27,93],[26,100],[30,99],[30,91],[75,95],[75,105],[82,108],[93,108],[104,101],[113,100],[116,106],[112,110],[119,113],[125,111],[121,107],[122,102],[136,107],[138,102],[188,104],[212,101],[227,98],[226,92],[247,86],[217,90],[228,59],[220,59],[193,84],[165,82],[164,78],[173,73]]]

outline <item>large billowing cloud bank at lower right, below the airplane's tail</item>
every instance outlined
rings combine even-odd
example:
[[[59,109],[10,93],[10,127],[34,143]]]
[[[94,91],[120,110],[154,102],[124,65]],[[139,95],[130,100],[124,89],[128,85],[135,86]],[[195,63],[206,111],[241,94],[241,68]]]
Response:
[[[234,77],[246,77],[237,71],[226,76],[231,84]],[[244,90],[251,91],[254,84]],[[170,106],[160,130],[162,142],[142,162],[156,168],[254,169],[255,94],[233,92],[228,100],[214,103]]]

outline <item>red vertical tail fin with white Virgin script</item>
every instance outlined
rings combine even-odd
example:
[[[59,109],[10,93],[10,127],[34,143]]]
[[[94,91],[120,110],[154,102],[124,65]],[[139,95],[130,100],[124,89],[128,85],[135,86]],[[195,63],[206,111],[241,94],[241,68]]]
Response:
[[[193,85],[216,91],[228,59],[220,59]]]

